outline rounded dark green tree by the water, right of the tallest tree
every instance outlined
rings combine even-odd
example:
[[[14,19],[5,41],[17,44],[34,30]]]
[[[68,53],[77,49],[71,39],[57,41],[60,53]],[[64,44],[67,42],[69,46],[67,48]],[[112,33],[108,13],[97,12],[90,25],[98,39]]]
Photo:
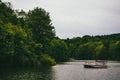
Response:
[[[50,44],[50,55],[57,61],[68,60],[68,46],[66,43],[60,39],[52,40]]]

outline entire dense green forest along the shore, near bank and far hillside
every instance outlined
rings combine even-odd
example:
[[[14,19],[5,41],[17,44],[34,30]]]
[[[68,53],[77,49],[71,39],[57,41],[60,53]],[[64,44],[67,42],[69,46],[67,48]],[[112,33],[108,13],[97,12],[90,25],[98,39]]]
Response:
[[[60,39],[49,13],[0,0],[0,66],[51,66],[70,58],[120,60],[120,34]]]

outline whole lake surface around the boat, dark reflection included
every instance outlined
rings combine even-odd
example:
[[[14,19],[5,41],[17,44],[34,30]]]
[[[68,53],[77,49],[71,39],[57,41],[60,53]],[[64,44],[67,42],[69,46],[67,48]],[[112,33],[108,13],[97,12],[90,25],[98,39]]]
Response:
[[[107,69],[86,69],[84,62],[66,62],[49,68],[0,69],[0,80],[120,80],[120,63]]]

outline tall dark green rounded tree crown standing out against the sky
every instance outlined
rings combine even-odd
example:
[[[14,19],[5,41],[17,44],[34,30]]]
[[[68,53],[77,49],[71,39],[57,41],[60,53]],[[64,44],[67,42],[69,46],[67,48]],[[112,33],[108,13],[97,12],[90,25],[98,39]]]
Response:
[[[37,7],[28,12],[27,24],[35,42],[48,44],[55,36],[49,13],[42,8]]]

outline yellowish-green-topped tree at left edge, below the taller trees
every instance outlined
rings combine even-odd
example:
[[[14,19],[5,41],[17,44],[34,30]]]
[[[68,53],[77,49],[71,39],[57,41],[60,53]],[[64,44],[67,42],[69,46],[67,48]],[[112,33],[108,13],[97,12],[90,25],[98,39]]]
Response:
[[[19,54],[24,55],[25,39],[27,34],[25,31],[11,23],[0,25],[0,61],[5,65],[12,65],[16,59],[19,59]],[[23,53],[24,52],[24,53]],[[20,60],[20,59],[19,59]]]

